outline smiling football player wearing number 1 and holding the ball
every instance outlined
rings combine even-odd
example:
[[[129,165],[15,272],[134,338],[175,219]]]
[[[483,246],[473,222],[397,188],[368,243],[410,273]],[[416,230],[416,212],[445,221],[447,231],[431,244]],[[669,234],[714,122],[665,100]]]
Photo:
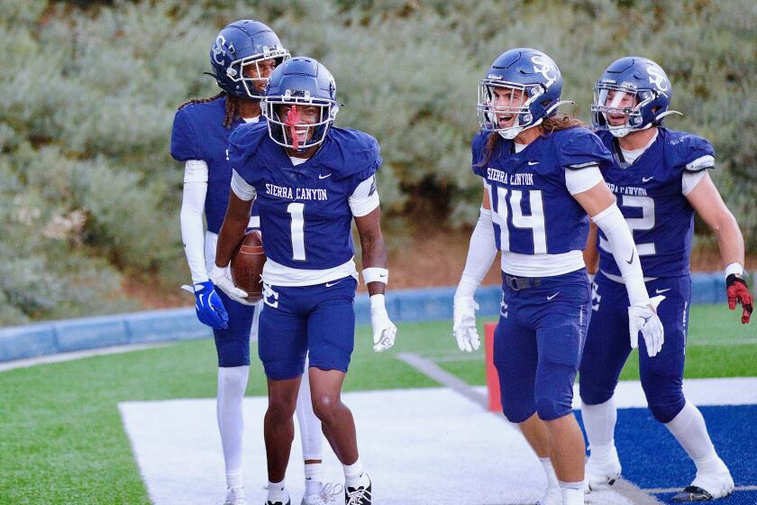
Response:
[[[387,250],[375,178],[381,164],[379,144],[366,133],[333,127],[338,110],[328,69],[311,58],[293,58],[270,76],[263,104],[268,124],[242,124],[230,141],[232,195],[211,279],[231,297],[245,296],[226,267],[242,241],[252,202],[257,202],[268,256],[259,339],[269,383],[268,505],[289,502],[284,477],[292,414],[308,353],[313,407],[342,462],[345,501],[371,502],[352,414],[340,397],[354,345],[353,218],[360,234],[375,351],[394,344],[397,327],[384,303]]]

